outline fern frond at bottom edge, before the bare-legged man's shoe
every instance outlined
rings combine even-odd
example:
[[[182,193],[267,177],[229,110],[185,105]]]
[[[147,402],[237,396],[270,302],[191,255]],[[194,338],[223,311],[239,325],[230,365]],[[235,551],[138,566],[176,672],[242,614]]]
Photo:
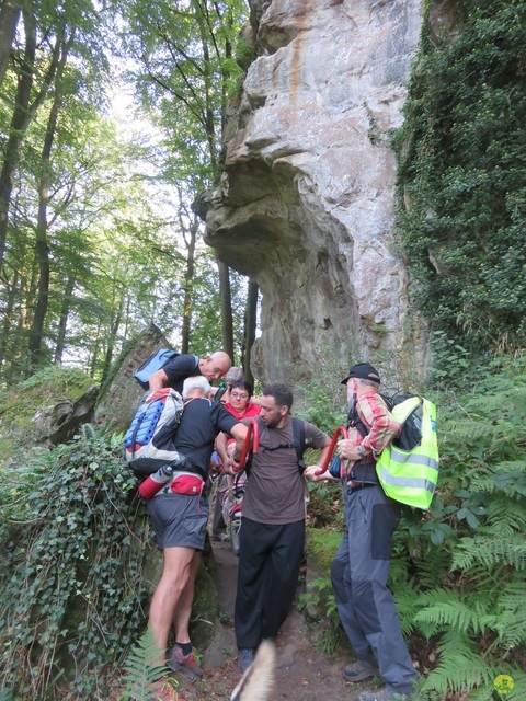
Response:
[[[155,701],[152,685],[167,673],[163,665],[156,664],[161,657],[159,644],[150,627],[139,637],[124,663],[126,691],[123,701]]]

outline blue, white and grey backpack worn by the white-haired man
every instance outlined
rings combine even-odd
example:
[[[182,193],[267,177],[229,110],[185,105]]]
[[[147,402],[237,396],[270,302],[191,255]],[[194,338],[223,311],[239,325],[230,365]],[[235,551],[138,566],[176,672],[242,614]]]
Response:
[[[173,443],[183,409],[181,394],[170,388],[157,390],[140,404],[124,438],[126,462],[137,476],[165,464],[179,469],[184,464]]]

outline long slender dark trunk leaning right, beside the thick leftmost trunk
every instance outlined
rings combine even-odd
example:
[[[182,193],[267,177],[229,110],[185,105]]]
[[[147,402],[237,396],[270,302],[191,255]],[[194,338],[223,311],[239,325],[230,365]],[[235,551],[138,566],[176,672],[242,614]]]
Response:
[[[42,149],[41,160],[41,183],[38,188],[38,220],[36,226],[35,251],[38,261],[38,292],[36,307],[33,314],[33,322],[30,331],[28,349],[31,355],[31,369],[34,370],[42,360],[44,323],[46,320],[49,303],[49,248],[47,245],[47,206],[49,203],[50,185],[50,162],[55,135],[57,131],[58,116],[64,97],[64,69],[68,60],[68,51],[72,44],[75,31],[69,41],[62,43],[60,62],[55,81],[55,97],[53,101],[49,118],[47,120],[46,136]]]

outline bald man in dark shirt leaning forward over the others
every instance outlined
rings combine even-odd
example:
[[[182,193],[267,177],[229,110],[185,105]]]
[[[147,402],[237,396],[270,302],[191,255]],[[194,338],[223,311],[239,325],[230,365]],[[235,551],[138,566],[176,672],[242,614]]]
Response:
[[[224,350],[217,350],[206,358],[196,355],[178,355],[167,363],[164,367],[153,372],[148,378],[150,391],[155,392],[163,387],[171,387],[179,393],[183,390],[183,382],[187,377],[206,377],[208,382],[214,382],[224,377],[230,369],[230,356]]]

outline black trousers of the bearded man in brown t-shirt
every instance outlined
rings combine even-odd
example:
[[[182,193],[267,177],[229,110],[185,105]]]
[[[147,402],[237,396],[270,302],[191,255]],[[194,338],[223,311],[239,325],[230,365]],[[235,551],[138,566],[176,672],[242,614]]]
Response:
[[[293,605],[304,547],[304,519],[274,526],[243,516],[235,611],[239,650],[276,637]]]

